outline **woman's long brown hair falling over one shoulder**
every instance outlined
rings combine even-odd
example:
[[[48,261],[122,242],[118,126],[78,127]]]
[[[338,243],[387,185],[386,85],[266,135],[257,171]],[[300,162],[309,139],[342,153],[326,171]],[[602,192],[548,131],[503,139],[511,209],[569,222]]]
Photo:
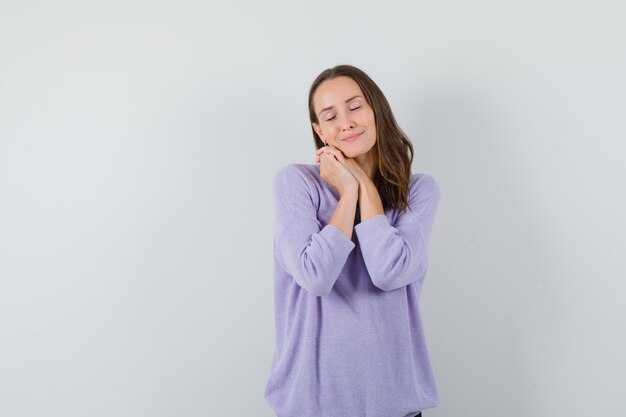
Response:
[[[409,187],[411,181],[411,163],[413,162],[413,145],[396,122],[387,98],[376,83],[362,70],[352,65],[337,65],[328,68],[317,76],[309,90],[309,118],[311,123],[319,123],[313,109],[313,94],[326,80],[346,76],[352,78],[361,88],[365,99],[374,111],[376,123],[376,154],[378,161],[374,173],[374,184],[385,210],[398,208],[401,211],[409,207]],[[313,140],[316,149],[324,146],[324,142],[315,132]]]

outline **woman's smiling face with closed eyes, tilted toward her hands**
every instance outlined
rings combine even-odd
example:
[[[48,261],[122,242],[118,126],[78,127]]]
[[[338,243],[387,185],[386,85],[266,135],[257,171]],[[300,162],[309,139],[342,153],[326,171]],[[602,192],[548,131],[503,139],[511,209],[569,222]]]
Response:
[[[313,123],[315,132],[348,158],[366,154],[376,143],[374,111],[352,78],[321,83],[313,94],[313,109],[318,120]]]

